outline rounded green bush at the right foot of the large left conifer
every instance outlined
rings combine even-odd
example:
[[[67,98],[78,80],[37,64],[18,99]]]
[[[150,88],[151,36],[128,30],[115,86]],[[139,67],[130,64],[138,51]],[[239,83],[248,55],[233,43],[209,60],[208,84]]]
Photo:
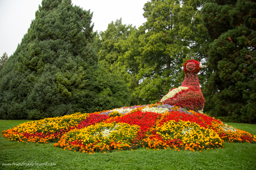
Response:
[[[80,112],[95,112],[129,105],[129,89],[117,74],[110,74],[103,67],[94,73],[94,84],[89,84],[85,91],[77,94],[77,104]],[[75,103],[76,102],[76,103]]]

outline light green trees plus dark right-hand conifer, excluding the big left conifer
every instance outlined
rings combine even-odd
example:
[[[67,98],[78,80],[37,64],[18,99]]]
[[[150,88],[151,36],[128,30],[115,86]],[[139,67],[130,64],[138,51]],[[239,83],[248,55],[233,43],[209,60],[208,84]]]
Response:
[[[184,80],[196,59],[204,112],[225,121],[256,122],[255,1],[151,0],[138,29],[111,22],[96,38],[99,62],[123,77],[131,104],[158,102]]]

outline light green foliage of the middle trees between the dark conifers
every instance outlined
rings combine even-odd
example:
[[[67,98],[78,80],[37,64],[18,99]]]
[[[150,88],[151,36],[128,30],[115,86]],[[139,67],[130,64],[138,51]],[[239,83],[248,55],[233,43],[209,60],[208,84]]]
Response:
[[[112,73],[122,75],[130,88],[131,104],[158,102],[170,87],[184,79],[186,58],[199,54],[205,40],[199,7],[203,1],[149,1],[147,22],[139,29],[120,20],[98,36],[99,60]]]

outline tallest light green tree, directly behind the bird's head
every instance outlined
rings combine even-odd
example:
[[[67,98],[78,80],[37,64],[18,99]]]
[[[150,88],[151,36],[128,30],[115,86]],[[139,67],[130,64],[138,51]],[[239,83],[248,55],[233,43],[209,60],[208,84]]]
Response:
[[[179,86],[184,80],[182,67],[189,53],[201,60],[199,49],[206,33],[199,10],[202,5],[200,0],[151,0],[144,5],[147,41],[142,54],[147,57],[158,53],[165,61],[165,88]]]

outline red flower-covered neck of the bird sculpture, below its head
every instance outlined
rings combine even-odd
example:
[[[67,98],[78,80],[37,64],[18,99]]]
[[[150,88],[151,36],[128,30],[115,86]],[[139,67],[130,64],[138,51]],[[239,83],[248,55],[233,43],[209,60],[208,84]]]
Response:
[[[185,74],[185,79],[184,79],[183,83],[181,84],[181,86],[183,86],[183,87],[193,87],[195,89],[200,89],[201,90],[197,74],[193,74],[193,73]]]

